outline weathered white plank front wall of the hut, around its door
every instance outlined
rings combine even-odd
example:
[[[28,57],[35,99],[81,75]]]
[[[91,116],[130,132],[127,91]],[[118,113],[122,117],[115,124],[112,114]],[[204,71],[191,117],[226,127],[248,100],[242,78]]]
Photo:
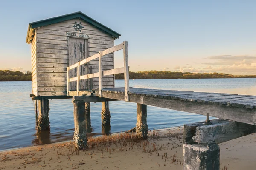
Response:
[[[67,95],[67,66],[69,63],[69,36],[67,36],[67,32],[80,34],[79,31],[76,32],[73,28],[75,21],[78,23],[81,22],[84,27],[81,30],[81,34],[89,35],[89,38],[87,38],[88,57],[97,54],[99,51],[113,47],[114,38],[111,35],[82,20],[67,20],[38,28],[36,30],[37,57],[36,61],[34,61],[37,67],[37,76],[35,76],[38,86],[37,96]],[[99,59],[90,61],[89,66],[92,66],[93,73],[98,72]],[[105,55],[103,57],[103,70],[113,68],[114,55]],[[113,75],[103,77],[103,81],[103,88],[114,87]],[[99,88],[99,78],[93,78],[93,89],[96,88]]]

